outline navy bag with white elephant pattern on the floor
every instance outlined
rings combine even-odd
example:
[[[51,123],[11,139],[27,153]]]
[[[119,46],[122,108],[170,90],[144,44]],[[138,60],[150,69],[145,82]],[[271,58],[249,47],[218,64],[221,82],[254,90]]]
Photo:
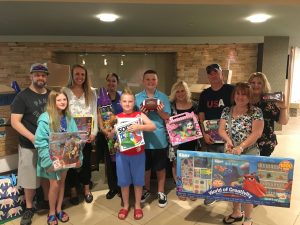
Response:
[[[25,208],[23,189],[16,186],[17,176],[0,176],[0,224],[18,218]]]

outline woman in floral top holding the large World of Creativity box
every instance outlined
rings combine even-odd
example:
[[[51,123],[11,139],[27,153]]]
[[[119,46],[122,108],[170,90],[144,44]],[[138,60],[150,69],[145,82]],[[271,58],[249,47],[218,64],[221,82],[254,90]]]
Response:
[[[257,139],[261,136],[264,121],[260,108],[250,103],[252,88],[248,83],[237,83],[232,93],[232,107],[223,109],[219,134],[225,141],[225,151],[235,155],[259,155]],[[223,223],[232,224],[244,219],[243,225],[252,225],[252,204],[233,202],[233,211],[224,217]],[[244,218],[245,216],[245,218]]]

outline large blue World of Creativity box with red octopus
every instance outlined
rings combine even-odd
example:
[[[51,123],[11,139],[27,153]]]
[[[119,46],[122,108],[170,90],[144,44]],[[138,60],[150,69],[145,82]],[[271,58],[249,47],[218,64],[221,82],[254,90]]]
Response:
[[[294,160],[177,152],[177,195],[290,207]]]

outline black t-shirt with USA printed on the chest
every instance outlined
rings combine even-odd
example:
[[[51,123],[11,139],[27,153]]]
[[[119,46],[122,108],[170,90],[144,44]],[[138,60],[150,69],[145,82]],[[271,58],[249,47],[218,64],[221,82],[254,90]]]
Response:
[[[206,120],[220,119],[223,109],[231,106],[233,89],[230,84],[224,84],[218,91],[211,87],[205,89],[199,97],[198,112],[203,112]]]

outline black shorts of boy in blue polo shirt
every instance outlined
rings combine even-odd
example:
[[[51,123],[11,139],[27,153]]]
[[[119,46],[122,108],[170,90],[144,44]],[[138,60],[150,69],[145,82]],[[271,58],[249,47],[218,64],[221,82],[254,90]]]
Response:
[[[145,149],[146,153],[146,167],[145,170],[152,169],[153,171],[160,171],[166,169],[168,151],[167,148],[161,149]]]

